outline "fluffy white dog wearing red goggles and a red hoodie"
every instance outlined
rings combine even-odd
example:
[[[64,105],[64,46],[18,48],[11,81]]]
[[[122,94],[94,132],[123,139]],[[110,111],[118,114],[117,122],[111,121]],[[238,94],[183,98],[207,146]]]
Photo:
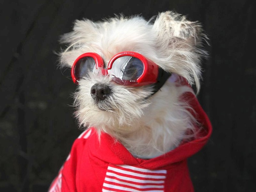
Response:
[[[193,191],[187,158],[212,132],[191,87],[199,92],[207,40],[173,11],[76,20],[59,55],[85,131],[49,191]]]

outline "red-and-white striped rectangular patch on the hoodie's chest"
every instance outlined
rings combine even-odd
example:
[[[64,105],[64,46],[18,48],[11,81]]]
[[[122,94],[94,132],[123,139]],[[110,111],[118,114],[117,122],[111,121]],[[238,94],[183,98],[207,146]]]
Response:
[[[166,170],[109,164],[102,191],[163,192],[166,173]]]

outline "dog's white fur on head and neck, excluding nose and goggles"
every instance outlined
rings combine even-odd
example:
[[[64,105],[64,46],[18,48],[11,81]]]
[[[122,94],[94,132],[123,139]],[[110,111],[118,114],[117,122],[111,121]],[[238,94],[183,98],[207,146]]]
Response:
[[[85,52],[98,53],[105,62],[118,52],[134,51],[154,61],[159,67],[184,77],[199,90],[203,34],[197,22],[174,12],[163,12],[149,22],[140,16],[112,18],[100,22],[77,20],[74,30],[61,38],[69,47],[60,53],[61,65],[71,67]],[[107,84],[111,93],[95,102],[92,85]],[[95,127],[99,136],[107,132],[120,141],[133,156],[153,158],[195,136],[193,111],[180,96],[193,92],[188,86],[167,81],[151,96],[153,86],[122,86],[94,71],[80,80],[74,93],[76,117],[80,126]],[[188,135],[188,131],[192,134]],[[100,137],[99,137],[100,138]]]

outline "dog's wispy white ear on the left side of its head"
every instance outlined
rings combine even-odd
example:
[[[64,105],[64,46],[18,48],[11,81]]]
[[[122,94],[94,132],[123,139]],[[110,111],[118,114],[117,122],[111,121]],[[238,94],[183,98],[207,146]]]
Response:
[[[68,47],[62,50],[60,56],[60,66],[72,67],[76,58],[83,54],[84,43],[90,43],[98,34],[97,24],[91,20],[76,20],[73,30],[61,36],[60,43],[67,44]]]

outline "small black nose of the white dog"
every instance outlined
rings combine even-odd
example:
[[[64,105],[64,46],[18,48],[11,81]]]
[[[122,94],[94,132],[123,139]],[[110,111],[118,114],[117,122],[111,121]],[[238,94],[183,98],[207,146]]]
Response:
[[[94,84],[91,88],[92,98],[97,102],[106,99],[110,92],[111,90],[106,84]]]

